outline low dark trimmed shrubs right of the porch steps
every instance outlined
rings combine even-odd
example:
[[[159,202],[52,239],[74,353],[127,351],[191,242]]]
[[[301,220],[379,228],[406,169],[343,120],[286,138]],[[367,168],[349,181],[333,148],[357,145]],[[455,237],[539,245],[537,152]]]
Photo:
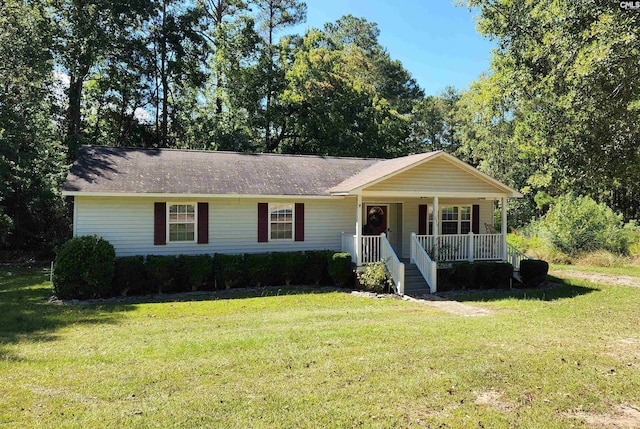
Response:
[[[520,262],[522,282],[512,283],[513,265],[508,262],[463,262],[438,270],[438,291],[536,287],[547,278],[548,272],[547,262],[526,259]]]

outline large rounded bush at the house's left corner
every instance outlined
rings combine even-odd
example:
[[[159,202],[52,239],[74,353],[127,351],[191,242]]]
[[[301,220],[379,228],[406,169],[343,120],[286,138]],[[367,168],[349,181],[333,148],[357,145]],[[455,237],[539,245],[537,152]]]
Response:
[[[116,253],[96,235],[74,237],[58,250],[53,270],[53,293],[62,299],[110,296]]]

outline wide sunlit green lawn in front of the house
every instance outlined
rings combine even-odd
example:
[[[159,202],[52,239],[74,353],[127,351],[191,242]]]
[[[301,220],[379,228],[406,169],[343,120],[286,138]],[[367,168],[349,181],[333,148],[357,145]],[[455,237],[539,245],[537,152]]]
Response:
[[[46,303],[0,269],[0,427],[588,427],[640,405],[640,289]],[[573,417],[574,415],[580,418]]]

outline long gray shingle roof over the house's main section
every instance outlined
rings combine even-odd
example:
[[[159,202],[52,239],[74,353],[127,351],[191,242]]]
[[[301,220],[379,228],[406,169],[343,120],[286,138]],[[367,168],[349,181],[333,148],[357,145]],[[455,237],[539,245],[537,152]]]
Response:
[[[377,159],[83,146],[63,192],[330,195]]]

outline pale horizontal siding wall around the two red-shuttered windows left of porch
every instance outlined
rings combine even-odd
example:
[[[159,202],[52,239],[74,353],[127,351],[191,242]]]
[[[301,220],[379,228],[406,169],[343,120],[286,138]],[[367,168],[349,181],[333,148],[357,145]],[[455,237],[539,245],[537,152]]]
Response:
[[[342,231],[355,232],[355,198],[283,199],[271,203],[305,205],[305,241],[258,243],[258,203],[264,199],[202,199],[209,203],[209,243],[153,244],[154,202],[182,200],[149,197],[75,197],[76,235],[98,234],[118,256],[148,254],[261,253],[340,250]]]

